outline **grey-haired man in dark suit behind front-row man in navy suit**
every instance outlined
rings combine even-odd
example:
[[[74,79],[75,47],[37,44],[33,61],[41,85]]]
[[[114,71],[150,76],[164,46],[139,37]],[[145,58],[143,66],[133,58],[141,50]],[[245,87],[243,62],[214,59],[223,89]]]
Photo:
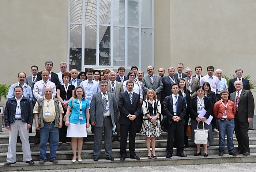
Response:
[[[162,77],[163,89],[161,92],[161,102],[165,100],[166,96],[172,94],[172,85],[177,83],[177,80],[174,78],[175,69],[173,67],[168,68],[168,75]],[[158,97],[157,97],[158,98]]]

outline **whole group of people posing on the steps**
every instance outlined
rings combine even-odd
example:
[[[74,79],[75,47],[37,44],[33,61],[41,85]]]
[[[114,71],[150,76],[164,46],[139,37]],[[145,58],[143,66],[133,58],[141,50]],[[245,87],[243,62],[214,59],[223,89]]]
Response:
[[[152,65],[147,67],[147,76],[138,67],[132,66],[127,77],[125,68],[114,71],[100,71],[88,68],[86,72],[71,69],[67,63],[60,63],[60,72],[52,72],[52,61],[45,62],[45,70],[31,67],[31,76],[18,73],[18,83],[10,87],[4,112],[5,127],[9,130],[7,163],[16,163],[16,140],[22,141],[23,161],[34,164],[29,145],[29,129],[35,119],[36,138],[39,145],[40,164],[46,159],[46,146],[50,144],[49,161],[57,163],[56,151],[59,144],[70,144],[73,151],[72,162],[82,162],[83,138],[91,125],[94,133],[93,155],[98,161],[101,155],[102,135],[104,136],[105,158],[113,161],[112,142],[120,142],[120,160],[127,157],[127,137],[129,133],[129,157],[139,160],[135,153],[135,136],[146,136],[148,159],[157,158],[155,140],[162,134],[160,121],[167,118],[168,139],[167,158],[172,157],[173,147],[177,156],[187,157],[184,148],[188,147],[186,129],[191,121],[193,129],[209,129],[208,142],[214,141],[212,132],[219,132],[219,155],[223,156],[225,134],[230,155],[249,155],[248,127],[254,113],[254,99],[249,81],[242,78],[242,69],[236,70],[237,77],[229,86],[222,78],[222,70],[207,67],[207,75],[202,76],[202,67],[193,70],[177,64],[159,68],[158,74]],[[101,77],[103,75],[103,77]],[[80,78],[80,79],[79,79]],[[229,96],[230,95],[230,96]],[[230,100],[228,99],[230,97]],[[204,112],[203,117],[199,114]],[[213,117],[209,124],[205,121]],[[190,119],[190,120],[189,120]],[[238,140],[238,152],[234,152],[233,132]],[[116,133],[114,135],[114,133]],[[56,137],[59,136],[59,137]],[[201,155],[200,145],[196,145],[194,156]],[[208,144],[203,145],[203,156],[207,157]],[[77,151],[77,152],[76,152]]]

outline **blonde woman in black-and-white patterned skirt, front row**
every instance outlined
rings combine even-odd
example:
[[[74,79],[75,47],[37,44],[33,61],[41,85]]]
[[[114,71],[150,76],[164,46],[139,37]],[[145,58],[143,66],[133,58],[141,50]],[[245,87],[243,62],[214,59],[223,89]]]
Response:
[[[143,124],[142,135],[146,136],[147,157],[151,159],[157,158],[155,154],[155,137],[161,136],[161,125],[159,116],[161,115],[161,104],[157,100],[157,94],[154,89],[150,88],[146,95],[146,100],[142,104],[143,111]],[[152,148],[152,155],[150,151],[150,145]]]

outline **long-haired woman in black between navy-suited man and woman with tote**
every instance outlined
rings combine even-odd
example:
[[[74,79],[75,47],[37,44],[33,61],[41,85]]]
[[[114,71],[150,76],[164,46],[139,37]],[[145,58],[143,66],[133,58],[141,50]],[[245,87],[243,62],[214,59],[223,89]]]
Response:
[[[188,127],[188,119],[189,119],[189,102],[190,102],[190,92],[189,89],[186,88],[186,83],[183,78],[180,78],[177,83],[180,87],[179,95],[185,98],[186,103],[186,115],[184,117],[185,119],[185,125],[184,125],[184,148],[188,147],[188,137],[186,135],[186,130]]]

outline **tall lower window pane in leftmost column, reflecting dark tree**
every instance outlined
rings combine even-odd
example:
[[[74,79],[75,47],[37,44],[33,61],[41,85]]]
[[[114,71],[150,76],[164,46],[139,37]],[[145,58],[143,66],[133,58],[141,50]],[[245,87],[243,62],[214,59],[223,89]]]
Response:
[[[82,63],[82,25],[70,25],[69,68],[81,71]]]

